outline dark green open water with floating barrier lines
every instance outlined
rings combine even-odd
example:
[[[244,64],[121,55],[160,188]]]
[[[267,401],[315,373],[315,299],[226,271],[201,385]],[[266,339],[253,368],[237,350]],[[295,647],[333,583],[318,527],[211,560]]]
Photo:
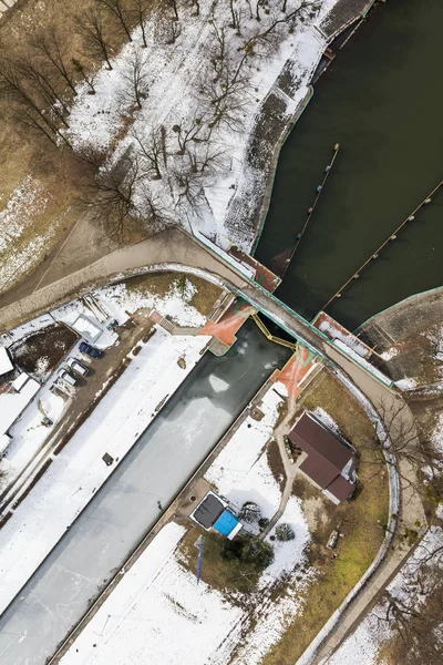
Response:
[[[257,258],[295,244],[323,168],[333,171],[277,296],[311,318],[442,180],[443,2],[389,0],[320,78],[278,163]],[[443,193],[328,311],[350,328],[443,284]]]

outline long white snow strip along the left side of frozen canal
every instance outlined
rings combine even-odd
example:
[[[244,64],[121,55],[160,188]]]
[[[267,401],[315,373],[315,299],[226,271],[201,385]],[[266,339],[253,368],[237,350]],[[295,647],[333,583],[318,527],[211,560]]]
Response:
[[[198,362],[208,340],[205,336],[175,337],[156,330],[54,458],[1,531],[0,612],[132,448],[158,405],[174,393]],[[177,364],[181,357],[185,358],[185,369]],[[111,467],[102,460],[105,452],[115,460]]]

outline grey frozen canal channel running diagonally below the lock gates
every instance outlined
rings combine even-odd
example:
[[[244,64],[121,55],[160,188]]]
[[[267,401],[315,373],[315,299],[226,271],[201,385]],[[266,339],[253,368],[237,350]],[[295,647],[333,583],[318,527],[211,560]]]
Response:
[[[3,614],[2,665],[44,665],[156,522],[157,501],[172,501],[288,356],[246,324],[225,357],[202,359]]]

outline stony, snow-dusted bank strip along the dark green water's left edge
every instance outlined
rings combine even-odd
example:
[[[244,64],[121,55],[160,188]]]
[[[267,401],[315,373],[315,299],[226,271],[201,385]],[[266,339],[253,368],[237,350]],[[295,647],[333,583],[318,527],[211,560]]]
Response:
[[[247,140],[244,167],[229,204],[226,228],[247,252],[259,243],[268,214],[280,151],[313,95],[312,78],[328,45],[375,0],[336,0],[303,35],[261,102]]]

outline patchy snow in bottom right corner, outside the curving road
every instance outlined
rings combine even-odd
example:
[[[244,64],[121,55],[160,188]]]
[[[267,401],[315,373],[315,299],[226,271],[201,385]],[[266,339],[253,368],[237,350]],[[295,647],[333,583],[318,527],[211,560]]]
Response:
[[[419,583],[419,576],[423,571],[421,562],[436,548],[443,545],[443,530],[440,526],[433,526],[425,534],[421,545],[408,563],[401,569],[388,586],[388,592],[405,606],[410,606],[414,612],[420,611],[420,605],[424,603],[432,592],[434,575],[437,579],[442,574],[443,561],[437,560],[431,563],[431,570],[427,571],[424,579]],[[391,621],[385,621],[387,601],[381,601],[365,616],[358,628],[346,640],[343,645],[336,654],[328,659],[328,665],[384,665],[379,659],[380,648],[383,643],[394,635]],[[431,637],[432,638],[432,637]],[[324,664],[326,665],[326,664]]]

